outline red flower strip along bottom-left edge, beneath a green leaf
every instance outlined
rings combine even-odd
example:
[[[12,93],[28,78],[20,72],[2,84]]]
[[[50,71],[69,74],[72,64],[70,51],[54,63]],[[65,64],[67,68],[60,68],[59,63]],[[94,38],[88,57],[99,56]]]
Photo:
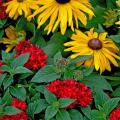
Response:
[[[4,115],[0,120],[28,120],[28,116],[25,112],[21,112],[16,115]]]

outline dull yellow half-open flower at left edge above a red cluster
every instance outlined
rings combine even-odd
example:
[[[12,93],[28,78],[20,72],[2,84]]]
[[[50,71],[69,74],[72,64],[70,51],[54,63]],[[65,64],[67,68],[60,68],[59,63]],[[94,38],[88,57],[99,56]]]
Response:
[[[10,52],[16,44],[26,38],[24,31],[16,31],[13,26],[6,28],[5,33],[7,38],[1,38],[0,43],[6,44],[6,52]]]

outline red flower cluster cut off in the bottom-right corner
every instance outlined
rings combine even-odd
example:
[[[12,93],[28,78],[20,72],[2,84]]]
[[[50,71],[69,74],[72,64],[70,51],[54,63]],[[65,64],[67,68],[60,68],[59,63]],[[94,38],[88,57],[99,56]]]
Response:
[[[117,108],[110,113],[109,120],[120,120],[120,108]]]

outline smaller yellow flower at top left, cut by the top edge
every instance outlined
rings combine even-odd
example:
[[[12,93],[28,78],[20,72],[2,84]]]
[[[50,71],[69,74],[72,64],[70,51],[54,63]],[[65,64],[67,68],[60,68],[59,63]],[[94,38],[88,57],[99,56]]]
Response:
[[[31,15],[31,10],[39,8],[38,0],[11,0],[5,4],[7,6],[6,13],[10,18],[17,19],[20,15]]]

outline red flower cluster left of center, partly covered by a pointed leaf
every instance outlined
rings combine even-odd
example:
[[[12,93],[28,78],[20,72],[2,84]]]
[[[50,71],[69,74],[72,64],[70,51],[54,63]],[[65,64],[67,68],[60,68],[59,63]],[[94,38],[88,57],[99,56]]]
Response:
[[[21,41],[18,45],[16,45],[16,51],[18,53],[15,57],[25,53],[30,53],[29,60],[25,63],[25,67],[28,69],[38,70],[44,67],[47,63],[48,57],[44,51],[33,45],[31,41]]]

